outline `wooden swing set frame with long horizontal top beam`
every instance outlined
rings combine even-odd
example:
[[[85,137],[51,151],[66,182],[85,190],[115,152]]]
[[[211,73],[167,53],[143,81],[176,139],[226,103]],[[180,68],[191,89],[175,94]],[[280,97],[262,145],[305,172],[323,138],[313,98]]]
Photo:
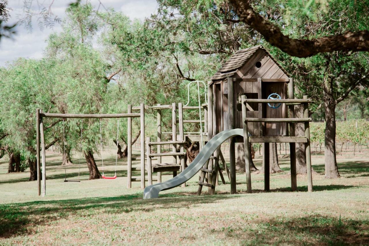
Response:
[[[128,105],[128,109],[131,105]],[[44,197],[46,195],[46,164],[45,164],[45,137],[44,137],[44,118],[128,118],[128,121],[132,121],[132,118],[140,118],[141,122],[141,142],[144,143],[145,139],[145,113],[144,104],[139,106],[139,113],[132,113],[128,110],[128,113],[124,114],[54,114],[54,113],[44,113],[39,108],[36,109],[36,159],[37,159],[37,187],[38,195]],[[131,132],[128,132],[128,137]],[[143,141],[142,141],[143,139]],[[144,146],[144,144],[141,144]],[[128,145],[129,152],[132,151],[132,146]],[[141,151],[141,166],[145,167],[145,153]],[[41,163],[41,164],[40,164]],[[144,169],[145,170],[145,169]],[[42,189],[41,189],[41,175],[42,175]]]

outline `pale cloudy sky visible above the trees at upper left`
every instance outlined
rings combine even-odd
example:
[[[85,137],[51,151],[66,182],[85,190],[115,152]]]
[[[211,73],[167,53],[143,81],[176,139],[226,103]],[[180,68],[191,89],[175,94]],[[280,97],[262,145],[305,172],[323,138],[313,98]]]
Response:
[[[158,4],[156,0],[82,0],[82,3],[86,1],[92,3],[94,6],[99,6],[99,3],[103,3],[106,8],[114,8],[116,11],[122,11],[127,14],[132,20],[135,18],[144,20],[145,17],[149,17],[150,14],[155,13]],[[33,0],[32,7],[35,11],[39,9],[37,2],[42,3],[43,6],[48,7],[52,0]],[[52,13],[59,18],[65,16],[65,9],[72,0],[54,0],[51,6]],[[11,11],[11,20],[8,24],[14,23],[19,20],[23,15],[24,0],[10,0],[9,7]],[[100,9],[103,7],[100,6]],[[37,18],[32,21],[33,30],[30,32],[23,26],[16,28],[17,35],[14,39],[2,38],[0,41],[0,66],[5,66],[8,61],[14,60],[18,57],[25,58],[41,58],[43,50],[46,46],[45,40],[52,32],[60,32],[61,25],[56,24],[54,28],[46,28],[40,30],[37,26]]]

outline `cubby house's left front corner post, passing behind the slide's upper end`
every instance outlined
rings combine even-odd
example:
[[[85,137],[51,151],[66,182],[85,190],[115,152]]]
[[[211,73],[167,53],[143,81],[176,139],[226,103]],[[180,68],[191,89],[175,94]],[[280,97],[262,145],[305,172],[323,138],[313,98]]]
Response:
[[[234,129],[234,88],[233,78],[227,78],[228,86],[228,129]],[[231,170],[231,194],[236,194],[236,154],[235,154],[235,138],[231,138],[230,142],[230,170]]]

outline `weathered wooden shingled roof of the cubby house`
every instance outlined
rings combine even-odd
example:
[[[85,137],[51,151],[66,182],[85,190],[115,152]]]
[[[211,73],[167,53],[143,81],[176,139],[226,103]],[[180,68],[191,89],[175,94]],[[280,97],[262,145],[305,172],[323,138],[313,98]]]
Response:
[[[210,78],[211,80],[221,80],[228,77],[231,77],[235,73],[237,73],[238,69],[245,65],[245,63],[254,55],[258,49],[262,49],[265,51],[269,57],[282,69],[284,73],[287,74],[286,70],[280,66],[276,60],[269,54],[268,51],[262,45],[256,45],[247,49],[240,49],[235,52],[228,60],[225,62],[220,69]]]

